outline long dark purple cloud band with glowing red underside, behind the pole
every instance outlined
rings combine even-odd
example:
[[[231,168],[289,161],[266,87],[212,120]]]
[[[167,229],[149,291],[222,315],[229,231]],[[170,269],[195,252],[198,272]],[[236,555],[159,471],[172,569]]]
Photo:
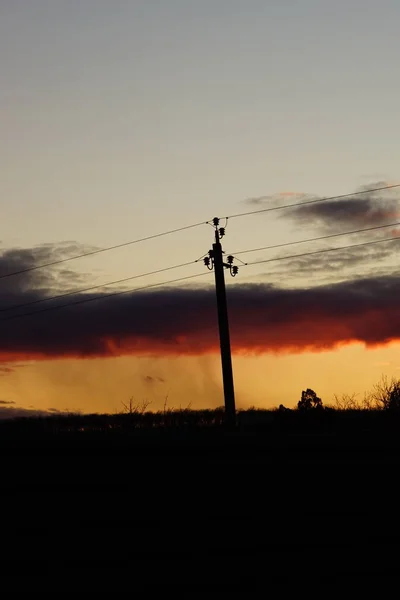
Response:
[[[6,260],[9,255],[6,252]],[[313,273],[338,268],[333,256],[317,256],[312,266],[300,261],[292,263],[292,268],[297,272],[312,268]],[[0,255],[0,272],[3,257]],[[350,266],[359,259],[355,251],[346,258]],[[16,260],[13,264],[19,265]],[[8,284],[13,278],[4,279],[0,311],[11,301],[22,304],[47,297],[52,291],[51,276],[51,270],[45,275],[41,270],[22,274],[18,276],[19,289]],[[47,277],[48,287],[37,285],[43,277]],[[307,288],[235,281],[228,289],[233,351],[320,351],[352,342],[370,347],[400,340],[399,293],[399,274],[378,272]],[[99,295],[78,293],[68,302],[79,304],[22,318],[4,320],[9,313],[0,312],[1,372],[9,373],[13,365],[33,359],[219,352],[213,286],[164,287],[114,297],[104,294],[96,300]],[[65,304],[65,299],[61,303]],[[28,312],[45,307],[29,307]],[[148,385],[162,382],[150,374],[145,381]]]

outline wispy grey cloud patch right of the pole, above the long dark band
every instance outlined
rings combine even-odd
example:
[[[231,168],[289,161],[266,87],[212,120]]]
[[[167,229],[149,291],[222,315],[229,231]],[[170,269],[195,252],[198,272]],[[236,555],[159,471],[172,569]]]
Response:
[[[277,276],[286,278],[293,276],[298,280],[299,277],[312,274],[319,276],[321,282],[337,281],[339,278],[344,278],[344,273],[346,276],[372,274],[371,263],[375,263],[376,266],[378,262],[385,263],[387,270],[393,264],[395,253],[399,248],[400,225],[396,223],[400,223],[400,192],[397,190],[368,191],[384,185],[385,182],[377,182],[368,188],[362,187],[356,190],[362,192],[360,195],[311,204],[304,204],[304,202],[316,200],[318,197],[305,194],[301,196],[297,192],[249,199],[248,202],[260,208],[281,206],[282,197],[283,205],[296,205],[273,213],[279,220],[285,220],[295,226],[296,231],[291,242],[296,240],[300,242],[294,243],[290,248],[277,250],[277,254],[272,257],[273,262],[268,264],[269,280],[273,281]],[[385,227],[378,230],[358,231],[383,225]],[[313,234],[310,234],[310,229],[314,231]],[[308,232],[305,233],[306,231]],[[352,231],[356,233],[346,235]],[[334,237],[329,237],[331,235]],[[314,239],[314,237],[324,238],[324,236],[328,237]],[[326,252],[328,249],[330,251]],[[318,254],[311,255],[315,252]],[[306,255],[301,256],[303,254]],[[264,258],[268,257],[260,255],[258,258],[251,258],[249,262],[262,261]],[[281,262],[282,259],[285,261]]]

